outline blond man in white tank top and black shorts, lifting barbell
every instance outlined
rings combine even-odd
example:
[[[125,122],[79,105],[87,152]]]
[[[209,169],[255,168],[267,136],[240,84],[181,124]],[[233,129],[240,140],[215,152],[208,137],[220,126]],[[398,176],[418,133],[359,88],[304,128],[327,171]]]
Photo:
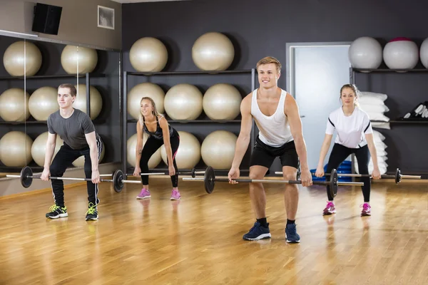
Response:
[[[300,163],[302,185],[310,186],[312,175],[307,166],[299,110],[292,95],[277,86],[281,63],[269,56],[257,63],[257,70],[260,88],[248,94],[240,106],[241,129],[228,174],[229,181],[234,184],[235,179],[240,176],[239,166],[248,149],[254,119],[260,133],[251,155],[250,179],[263,179],[275,158],[280,157],[285,180],[296,180]],[[257,221],[250,232],[244,234],[243,239],[268,239],[271,235],[265,214],[266,197],[262,183],[250,183],[250,197]],[[297,185],[285,184],[287,242],[300,242],[295,224],[298,201]]]

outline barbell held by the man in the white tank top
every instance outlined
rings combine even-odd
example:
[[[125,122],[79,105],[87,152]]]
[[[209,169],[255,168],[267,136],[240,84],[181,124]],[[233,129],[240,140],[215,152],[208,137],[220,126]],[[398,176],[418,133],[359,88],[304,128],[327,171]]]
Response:
[[[184,181],[203,181],[205,191],[208,194],[213,193],[215,182],[229,182],[228,178],[215,178],[215,172],[213,167],[208,166],[205,170],[204,177],[183,177]],[[301,180],[267,180],[267,179],[234,179],[236,182],[248,182],[248,183],[288,183],[288,184],[302,184]],[[314,185],[330,185],[330,194],[335,197],[337,195],[338,185],[356,185],[362,186],[363,182],[337,182],[337,171],[334,169],[330,173],[330,181],[314,181]]]

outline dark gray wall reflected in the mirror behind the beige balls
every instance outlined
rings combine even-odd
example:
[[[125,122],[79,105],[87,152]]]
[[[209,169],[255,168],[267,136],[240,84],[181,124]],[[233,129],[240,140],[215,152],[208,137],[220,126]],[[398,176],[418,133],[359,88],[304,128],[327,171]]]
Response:
[[[8,36],[0,36],[0,55],[4,54],[6,48],[15,41],[23,41],[21,38],[12,38]],[[28,41],[28,40],[26,40]],[[39,47],[42,53],[42,66],[36,76],[52,76],[66,74],[61,66],[61,52],[65,45],[59,43],[49,43],[46,41],[31,41]],[[93,71],[94,76],[91,76],[91,86],[98,89],[103,98],[103,108],[98,117],[93,120],[97,133],[101,135],[105,145],[105,155],[101,163],[119,162],[121,161],[120,150],[120,109],[119,105],[119,52],[118,51],[103,51],[97,50],[98,64]],[[104,76],[98,77],[97,74]],[[0,77],[10,77],[6,72],[3,63],[0,65]],[[31,95],[34,90],[42,86],[51,86],[57,88],[61,83],[77,83],[77,78],[74,76],[66,78],[27,78],[26,90]],[[86,85],[86,78],[78,78],[79,84]],[[7,79],[0,80],[0,94],[9,88],[23,88],[23,79]],[[34,121],[30,116],[29,121]],[[22,123],[11,125],[0,119],[0,138],[11,130],[21,130],[26,132],[30,138],[35,140],[38,135],[47,131],[46,123]],[[30,163],[36,167],[35,162]],[[3,165],[0,162],[0,167]]]

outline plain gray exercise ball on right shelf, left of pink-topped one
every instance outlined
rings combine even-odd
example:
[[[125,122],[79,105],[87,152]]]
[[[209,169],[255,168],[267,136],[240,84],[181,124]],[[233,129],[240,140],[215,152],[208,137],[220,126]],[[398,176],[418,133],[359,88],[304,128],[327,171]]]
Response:
[[[382,63],[382,46],[369,36],[362,36],[351,43],[348,58],[353,68],[378,68]]]

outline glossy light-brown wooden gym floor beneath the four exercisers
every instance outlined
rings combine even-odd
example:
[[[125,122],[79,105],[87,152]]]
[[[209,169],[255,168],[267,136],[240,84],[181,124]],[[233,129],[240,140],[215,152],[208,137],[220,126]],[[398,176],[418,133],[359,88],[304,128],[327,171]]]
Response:
[[[323,217],[324,187],[300,188],[300,244],[285,242],[282,185],[266,184],[272,239],[245,242],[248,184],[151,178],[120,194],[101,183],[100,219],[86,222],[86,186],[66,189],[68,218],[44,217],[51,192],[0,199],[0,284],[428,284],[428,185],[376,182],[372,216],[360,187],[340,187]]]

